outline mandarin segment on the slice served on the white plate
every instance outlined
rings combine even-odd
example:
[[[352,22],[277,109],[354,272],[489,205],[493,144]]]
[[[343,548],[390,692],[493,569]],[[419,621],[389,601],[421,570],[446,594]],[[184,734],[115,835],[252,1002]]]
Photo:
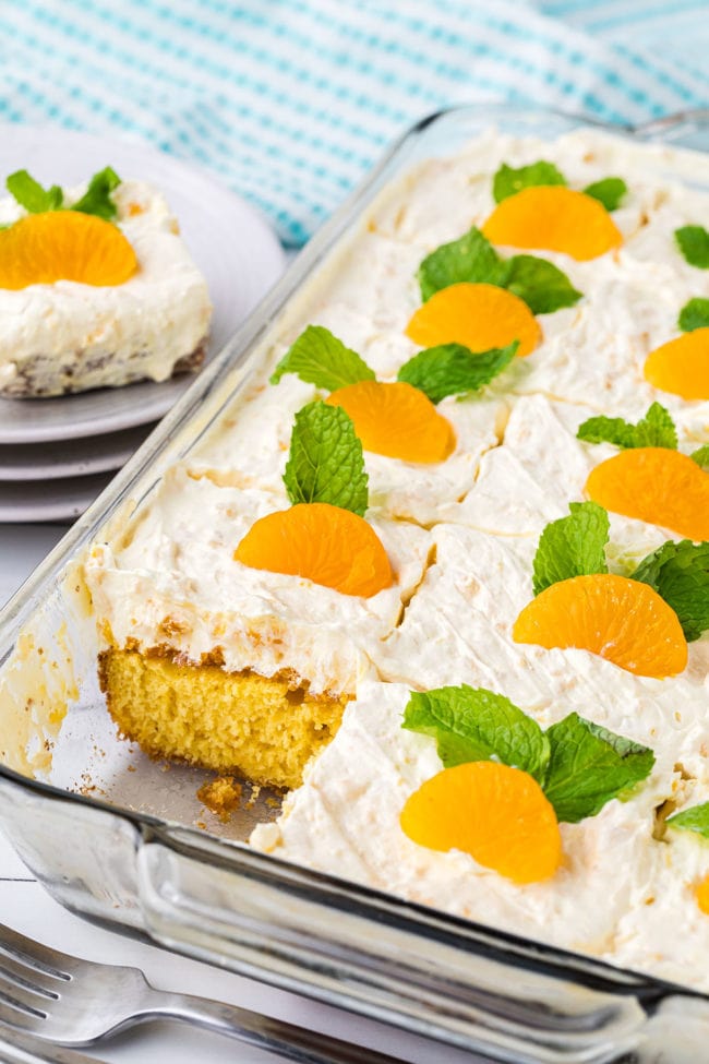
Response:
[[[137,259],[120,229],[79,211],[29,214],[0,230],[0,288],[26,288],[75,280],[122,285]]]

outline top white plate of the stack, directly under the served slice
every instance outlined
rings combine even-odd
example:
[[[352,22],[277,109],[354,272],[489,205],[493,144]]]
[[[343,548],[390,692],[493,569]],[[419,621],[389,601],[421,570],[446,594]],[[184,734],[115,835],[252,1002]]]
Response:
[[[0,124],[0,186],[19,169],[29,170],[43,184],[76,184],[112,166],[121,177],[161,189],[214,302],[207,358],[224,346],[283,272],[283,248],[254,207],[211,175],[142,142]],[[188,373],[164,384],[58,398],[0,398],[0,443],[71,440],[146,425],[163,417],[192,380]]]

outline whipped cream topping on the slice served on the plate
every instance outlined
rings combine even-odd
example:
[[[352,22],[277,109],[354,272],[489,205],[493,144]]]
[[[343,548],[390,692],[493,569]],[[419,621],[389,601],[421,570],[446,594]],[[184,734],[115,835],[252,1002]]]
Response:
[[[68,190],[67,205],[85,191],[85,184]],[[137,378],[164,381],[205,339],[209,294],[165,198],[134,180],[122,181],[112,196],[137,272],[112,287],[59,280],[0,289],[0,390],[11,387],[37,359],[51,367],[45,372],[53,391],[117,386]],[[13,199],[0,201],[0,224],[24,213]]]

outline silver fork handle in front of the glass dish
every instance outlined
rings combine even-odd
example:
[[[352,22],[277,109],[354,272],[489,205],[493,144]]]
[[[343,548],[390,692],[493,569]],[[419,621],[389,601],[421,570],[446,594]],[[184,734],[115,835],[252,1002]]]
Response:
[[[298,1064],[401,1064],[400,1057],[377,1053],[362,1045],[351,1045],[339,1038],[321,1035],[271,1016],[261,1016],[238,1005],[227,1005],[189,994],[163,993],[154,988],[151,990],[155,996],[146,1003],[146,1019],[148,1016],[171,1017],[196,1027],[205,1027],[269,1053],[278,1053]]]

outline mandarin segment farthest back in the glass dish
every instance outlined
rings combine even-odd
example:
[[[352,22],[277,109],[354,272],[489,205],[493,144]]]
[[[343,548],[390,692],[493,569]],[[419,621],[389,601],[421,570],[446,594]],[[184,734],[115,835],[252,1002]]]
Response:
[[[580,262],[623,243],[602,203],[563,184],[536,186],[507,196],[482,231],[492,243],[561,251]]]

